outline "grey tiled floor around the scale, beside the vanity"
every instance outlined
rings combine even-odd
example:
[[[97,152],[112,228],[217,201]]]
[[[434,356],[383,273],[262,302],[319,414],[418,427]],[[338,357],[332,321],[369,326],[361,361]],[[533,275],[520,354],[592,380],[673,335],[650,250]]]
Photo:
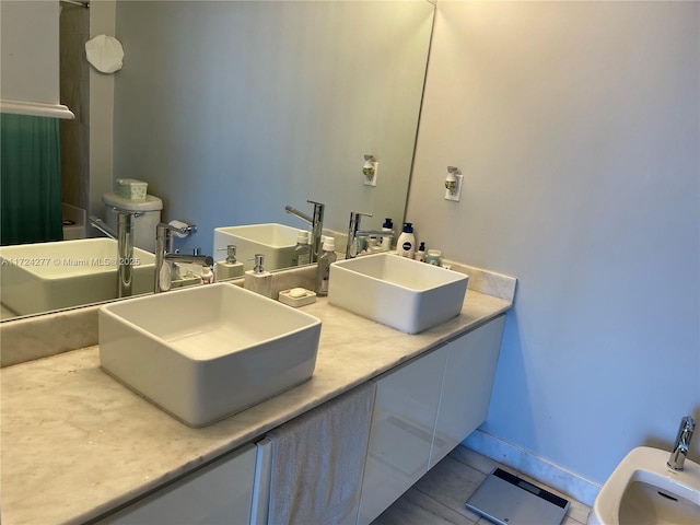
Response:
[[[495,467],[542,486],[537,480],[499,465],[469,448],[457,446],[372,522],[372,525],[488,525],[491,522],[468,511],[464,503]],[[586,523],[591,511],[588,506],[556,490],[548,490],[571,501],[562,525]]]

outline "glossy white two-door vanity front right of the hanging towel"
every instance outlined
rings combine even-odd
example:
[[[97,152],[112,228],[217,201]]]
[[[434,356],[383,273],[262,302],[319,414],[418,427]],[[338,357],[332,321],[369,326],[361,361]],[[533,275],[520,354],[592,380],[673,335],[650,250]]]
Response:
[[[376,381],[358,525],[368,525],[486,419],[505,316]]]

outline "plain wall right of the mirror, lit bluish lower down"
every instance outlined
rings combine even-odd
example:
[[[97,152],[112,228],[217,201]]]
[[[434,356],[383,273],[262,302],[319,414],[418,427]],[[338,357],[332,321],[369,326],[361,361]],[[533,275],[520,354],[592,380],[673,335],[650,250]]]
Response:
[[[520,279],[482,429],[598,483],[700,419],[699,55],[697,2],[438,3],[407,220]]]

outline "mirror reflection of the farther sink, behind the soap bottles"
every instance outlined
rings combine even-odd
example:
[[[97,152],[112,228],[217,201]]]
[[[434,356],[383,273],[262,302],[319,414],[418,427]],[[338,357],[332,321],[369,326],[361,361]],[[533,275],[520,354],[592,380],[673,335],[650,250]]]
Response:
[[[292,266],[296,237],[301,230],[284,224],[246,224],[214,229],[217,260],[226,258],[226,246],[236,246],[236,258],[244,270],[252,270],[255,254],[265,255],[265,269],[278,270]]]

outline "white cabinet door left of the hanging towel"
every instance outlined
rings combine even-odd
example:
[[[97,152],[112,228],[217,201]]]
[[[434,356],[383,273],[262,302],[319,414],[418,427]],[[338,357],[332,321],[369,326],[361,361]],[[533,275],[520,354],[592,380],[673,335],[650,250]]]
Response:
[[[98,523],[247,525],[255,456],[256,447],[245,445]]]

